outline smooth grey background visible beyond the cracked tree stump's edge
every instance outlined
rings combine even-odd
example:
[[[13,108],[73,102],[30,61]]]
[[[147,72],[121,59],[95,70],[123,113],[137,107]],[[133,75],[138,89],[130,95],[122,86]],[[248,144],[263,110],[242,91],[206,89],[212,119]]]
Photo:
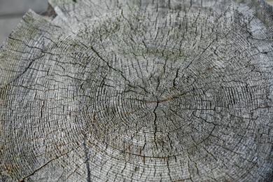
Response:
[[[273,6],[273,0],[266,0]],[[48,0],[0,0],[0,46],[18,25],[27,10],[41,13],[48,7]]]

